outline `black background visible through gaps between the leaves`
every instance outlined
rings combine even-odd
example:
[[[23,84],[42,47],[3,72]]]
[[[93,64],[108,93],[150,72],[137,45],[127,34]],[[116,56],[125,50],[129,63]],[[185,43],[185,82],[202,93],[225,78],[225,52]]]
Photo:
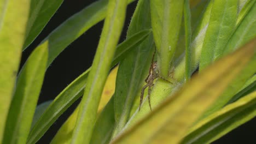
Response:
[[[89,5],[92,2],[94,1],[64,0],[61,7],[43,29],[42,33],[39,34],[37,39],[22,54],[21,65],[24,64],[34,47],[36,47],[51,31],[68,19],[68,17],[71,17],[73,14],[82,10],[86,5]],[[133,2],[127,8],[126,22],[120,41],[125,39],[127,27],[129,26],[136,3],[137,2]],[[102,27],[103,21],[81,35],[54,60],[46,71],[38,104],[43,103],[44,101],[53,100],[62,91],[62,89],[91,66],[98,40],[100,39]],[[49,143],[50,140],[53,139],[57,130],[61,127],[63,122],[66,121],[68,116],[71,115],[79,101],[80,99],[53,124],[38,143]],[[256,143],[255,134],[256,118],[246,124],[243,124],[241,127],[233,130],[231,133],[213,143]]]

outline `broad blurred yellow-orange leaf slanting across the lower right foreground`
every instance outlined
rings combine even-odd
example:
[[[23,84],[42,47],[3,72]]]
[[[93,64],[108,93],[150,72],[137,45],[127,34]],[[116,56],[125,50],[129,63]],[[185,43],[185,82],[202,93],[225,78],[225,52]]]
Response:
[[[250,61],[256,52],[255,44],[256,39],[203,70],[181,91],[167,98],[112,143],[134,143],[138,140],[140,143],[179,143],[206,107],[219,97]]]

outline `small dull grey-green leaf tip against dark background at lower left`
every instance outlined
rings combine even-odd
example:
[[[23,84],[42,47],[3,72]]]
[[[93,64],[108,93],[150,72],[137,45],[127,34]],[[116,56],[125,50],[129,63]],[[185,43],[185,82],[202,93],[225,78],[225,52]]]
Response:
[[[37,106],[36,111],[34,112],[34,117],[33,117],[33,121],[32,121],[32,124],[31,124],[31,128],[34,127],[34,124],[36,124],[38,119],[42,116],[42,114],[47,109],[47,107],[51,104],[51,102],[53,102],[53,100],[45,101],[44,103],[39,104]]]

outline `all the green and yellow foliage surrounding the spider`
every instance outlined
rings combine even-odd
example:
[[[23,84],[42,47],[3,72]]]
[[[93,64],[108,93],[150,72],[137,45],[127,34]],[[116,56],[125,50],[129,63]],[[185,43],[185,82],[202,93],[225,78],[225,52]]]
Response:
[[[131,2],[98,0],[79,11],[18,73],[22,50],[62,0],[0,1],[1,143],[36,143],[82,96],[51,143],[210,143],[256,116],[255,0],[138,0],[118,45]],[[103,19],[91,68],[37,106],[49,65]],[[150,68],[157,79],[141,95]]]

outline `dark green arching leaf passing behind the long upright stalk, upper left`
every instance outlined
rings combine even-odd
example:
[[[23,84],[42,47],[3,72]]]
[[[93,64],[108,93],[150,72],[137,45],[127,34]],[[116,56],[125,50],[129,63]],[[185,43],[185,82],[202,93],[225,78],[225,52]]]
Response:
[[[128,2],[131,3],[133,1],[135,0],[129,0]],[[92,3],[63,22],[40,43],[40,45],[48,43],[49,56],[47,67],[69,44],[106,17],[107,4],[108,0]]]

